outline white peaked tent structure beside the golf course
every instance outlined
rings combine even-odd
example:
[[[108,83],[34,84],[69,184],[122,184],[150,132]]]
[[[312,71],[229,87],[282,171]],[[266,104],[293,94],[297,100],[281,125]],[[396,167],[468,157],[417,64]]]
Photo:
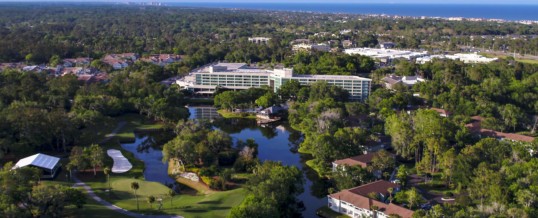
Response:
[[[12,169],[33,166],[43,170],[41,178],[54,178],[60,168],[60,158],[37,153],[29,157],[20,159]]]

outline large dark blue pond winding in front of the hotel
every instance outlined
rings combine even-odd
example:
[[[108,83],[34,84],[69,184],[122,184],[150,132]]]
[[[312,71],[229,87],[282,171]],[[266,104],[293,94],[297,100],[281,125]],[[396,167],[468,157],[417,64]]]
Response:
[[[215,108],[191,107],[191,119],[214,119],[218,117]],[[252,138],[258,143],[258,158],[262,161],[280,161],[285,165],[299,168],[304,175],[304,192],[299,195],[306,210],[304,217],[317,217],[316,210],[327,203],[325,183],[317,174],[306,166],[305,162],[310,156],[297,153],[302,141],[302,134],[293,130],[285,122],[275,125],[258,126],[255,120],[249,119],[216,119],[214,126],[233,138],[234,142],[241,139]]]

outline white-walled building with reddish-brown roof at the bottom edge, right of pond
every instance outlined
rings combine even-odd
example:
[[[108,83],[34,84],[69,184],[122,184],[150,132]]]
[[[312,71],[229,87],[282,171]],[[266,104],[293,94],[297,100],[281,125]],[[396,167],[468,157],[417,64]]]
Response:
[[[389,188],[393,189],[392,193],[389,193]],[[346,214],[353,218],[388,218],[390,215],[411,218],[414,211],[393,204],[390,200],[390,196],[394,196],[398,191],[400,191],[399,185],[378,180],[328,195],[328,206],[335,212]],[[371,193],[376,195],[376,199],[370,197]]]

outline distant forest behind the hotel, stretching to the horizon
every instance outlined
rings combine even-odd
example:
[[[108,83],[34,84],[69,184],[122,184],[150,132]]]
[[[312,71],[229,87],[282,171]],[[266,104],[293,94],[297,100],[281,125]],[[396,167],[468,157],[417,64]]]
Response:
[[[538,34],[537,25],[515,23],[65,3],[6,3],[1,12],[0,62],[46,63],[54,55],[100,58],[105,53],[136,52],[183,54],[192,66],[216,60],[277,63],[290,55],[290,42],[297,38],[315,42],[350,39],[367,47],[393,41],[401,48],[454,51],[474,46],[522,54],[538,52],[538,38],[470,37]],[[344,29],[352,31],[340,34]],[[314,36],[320,32],[328,34]],[[267,45],[257,45],[247,42],[251,36],[272,39]]]

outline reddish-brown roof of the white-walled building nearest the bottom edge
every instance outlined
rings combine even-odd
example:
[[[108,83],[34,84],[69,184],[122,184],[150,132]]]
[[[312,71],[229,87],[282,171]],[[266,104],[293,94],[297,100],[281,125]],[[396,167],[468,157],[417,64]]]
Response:
[[[353,204],[356,207],[370,210],[372,206],[377,206],[378,211],[383,212],[386,215],[398,214],[403,218],[410,218],[413,216],[414,211],[398,206],[396,204],[385,204],[381,201],[371,199],[368,197],[368,193],[382,193],[383,195],[388,195],[388,188],[396,188],[397,184],[390,183],[384,180],[379,180],[376,182],[368,183],[359,187],[352,189],[346,189],[338,193],[329,195],[333,199],[338,199],[340,201],[345,201],[347,203]]]

